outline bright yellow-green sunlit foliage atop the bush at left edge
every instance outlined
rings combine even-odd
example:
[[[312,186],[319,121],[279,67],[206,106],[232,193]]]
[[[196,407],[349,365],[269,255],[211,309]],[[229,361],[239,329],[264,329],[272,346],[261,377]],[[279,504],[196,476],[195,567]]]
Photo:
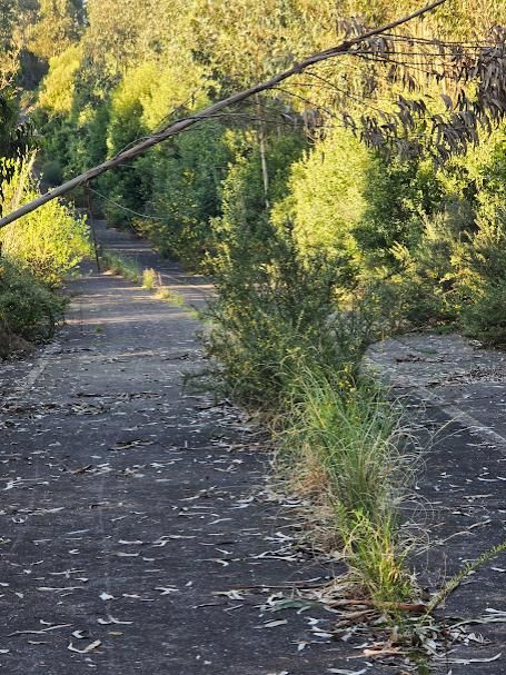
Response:
[[[12,178],[2,185],[2,209],[38,196],[31,169],[31,162],[14,165]],[[60,285],[90,251],[85,219],[56,200],[1,230],[0,241],[4,254],[51,286]]]

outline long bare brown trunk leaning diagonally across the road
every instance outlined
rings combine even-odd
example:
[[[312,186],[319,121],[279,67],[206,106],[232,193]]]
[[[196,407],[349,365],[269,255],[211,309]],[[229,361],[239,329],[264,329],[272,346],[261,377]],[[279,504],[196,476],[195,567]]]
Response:
[[[444,2],[446,2],[446,0],[436,0],[435,2],[427,4],[426,7],[408,14],[407,17],[403,17],[401,19],[396,19],[395,21],[391,21],[390,23],[386,23],[381,28],[376,28],[376,29],[369,30],[369,31],[363,33],[361,36],[358,36],[357,38],[345,40],[337,47],[333,47],[331,49],[320,51],[316,54],[308,57],[304,61],[300,61],[299,63],[295,63],[291,68],[289,68],[288,70],[285,70],[284,72],[278,73],[270,80],[266,80],[265,82],[255,85],[255,87],[250,87],[249,89],[245,89],[242,91],[234,93],[232,96],[229,96],[228,98],[222,99],[221,101],[218,101],[217,103],[214,103],[212,106],[209,106],[208,108],[206,108],[198,115],[191,115],[189,117],[177,120],[176,122],[161,129],[157,133],[153,133],[152,136],[148,136],[141,142],[137,143],[136,146],[128,148],[128,150],[125,150],[125,151],[120,152],[119,155],[117,155],[116,157],[102,162],[101,165],[98,165],[97,167],[93,167],[92,169],[89,169],[88,171],[85,171],[83,173],[76,176],[71,180],[68,180],[67,182],[59,186],[58,188],[54,188],[50,192],[47,192],[46,195],[41,195],[37,199],[33,199],[32,201],[29,201],[21,208],[14,210],[12,214],[9,214],[8,216],[0,218],[0,228],[6,227],[7,225],[13,222],[14,220],[18,220],[18,218],[21,218],[22,216],[26,216],[27,214],[30,214],[31,211],[34,211],[42,205],[47,204],[48,201],[51,201],[51,199],[56,199],[57,197],[61,197],[62,195],[70,192],[75,188],[83,185],[85,182],[88,182],[92,178],[97,178],[97,176],[100,176],[101,173],[105,173],[106,171],[109,171],[110,169],[113,169],[118,165],[121,165],[125,161],[128,161],[130,159],[133,159],[135,157],[138,157],[142,152],[146,152],[146,150],[149,150],[149,148],[157,146],[158,143],[167,140],[168,138],[171,138],[172,136],[177,136],[178,133],[181,133],[181,131],[185,131],[186,129],[188,129],[189,127],[192,127],[197,122],[209,119],[219,110],[222,110],[224,108],[227,108],[235,103],[239,103],[240,101],[244,101],[245,99],[248,99],[248,98],[255,96],[256,93],[260,93],[261,91],[267,91],[269,89],[274,89],[280,82],[287,80],[288,78],[290,78],[295,75],[299,75],[300,72],[306,70],[306,68],[309,68],[310,66],[314,66],[315,63],[319,63],[321,61],[331,59],[333,57],[337,57],[343,53],[348,53],[348,52],[350,52],[351,48],[355,47],[356,44],[359,44],[360,42],[364,42],[365,40],[368,40],[369,38],[378,36],[383,32],[397,28],[398,26],[401,26],[403,23],[407,23],[408,21],[411,21],[413,19],[416,19],[417,17],[421,17],[421,14],[425,14],[426,12],[431,11],[433,9],[436,9],[436,7],[439,7]]]

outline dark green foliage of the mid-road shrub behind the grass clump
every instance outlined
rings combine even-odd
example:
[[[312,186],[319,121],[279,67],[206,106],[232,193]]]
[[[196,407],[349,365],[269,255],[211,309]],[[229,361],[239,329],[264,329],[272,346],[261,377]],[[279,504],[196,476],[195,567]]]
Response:
[[[289,242],[271,238],[270,259],[236,250],[228,254],[232,262],[228,257],[217,265],[218,299],[208,314],[207,348],[220,363],[220,379],[229,395],[254,407],[279,404],[302,357],[334,350],[331,330],[324,330],[333,308],[331,266],[302,265]]]

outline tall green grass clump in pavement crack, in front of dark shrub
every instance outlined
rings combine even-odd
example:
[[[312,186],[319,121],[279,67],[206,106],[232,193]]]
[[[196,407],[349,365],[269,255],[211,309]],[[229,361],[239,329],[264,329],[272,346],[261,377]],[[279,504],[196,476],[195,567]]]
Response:
[[[290,483],[323,502],[353,575],[378,606],[409,600],[399,506],[413,459],[403,451],[399,410],[364,375],[338,364],[304,366],[294,377],[281,433]]]

